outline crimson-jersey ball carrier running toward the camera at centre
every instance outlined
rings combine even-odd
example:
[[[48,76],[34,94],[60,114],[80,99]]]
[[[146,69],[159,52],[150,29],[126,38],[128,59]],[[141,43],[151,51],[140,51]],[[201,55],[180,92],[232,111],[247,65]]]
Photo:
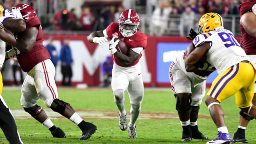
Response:
[[[140,72],[140,57],[146,47],[147,36],[138,30],[140,19],[134,10],[125,10],[118,22],[111,23],[105,30],[92,32],[87,40],[106,45],[107,38],[111,39],[109,49],[113,54],[114,66],[112,70],[111,87],[114,102],[119,110],[119,127],[125,131],[128,127],[129,138],[137,138],[135,122],[140,114],[140,104],[144,95],[144,86]],[[116,50],[119,40],[123,40],[127,47],[127,55]],[[124,93],[128,91],[131,103],[131,119],[127,126],[127,114],[124,109]]]

